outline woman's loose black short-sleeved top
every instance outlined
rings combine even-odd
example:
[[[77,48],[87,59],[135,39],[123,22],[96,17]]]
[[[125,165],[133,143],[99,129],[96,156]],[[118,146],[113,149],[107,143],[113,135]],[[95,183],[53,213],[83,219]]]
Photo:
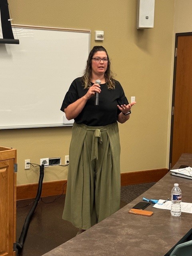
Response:
[[[116,80],[115,88],[108,89],[106,84],[100,84],[101,92],[99,94],[99,106],[95,106],[95,96],[93,95],[85,104],[82,112],[74,118],[77,124],[86,124],[88,126],[104,126],[117,121],[120,110],[117,105],[128,104],[123,88]],[[93,84],[93,83],[92,83]],[[63,100],[61,110],[75,102],[88,91],[84,89],[82,78],[76,78]]]

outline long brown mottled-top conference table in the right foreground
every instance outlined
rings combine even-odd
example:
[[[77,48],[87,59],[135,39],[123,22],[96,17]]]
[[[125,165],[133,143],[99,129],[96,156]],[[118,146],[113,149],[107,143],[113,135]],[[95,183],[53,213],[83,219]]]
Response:
[[[182,154],[172,169],[180,165],[192,166],[192,154]],[[150,217],[128,211],[143,197],[170,198],[174,183],[182,190],[182,202],[192,203],[192,180],[168,172],[138,198],[43,256],[168,256],[176,244],[192,234],[192,214],[182,212],[174,217],[170,210],[154,208],[154,204],[145,209],[154,212]]]

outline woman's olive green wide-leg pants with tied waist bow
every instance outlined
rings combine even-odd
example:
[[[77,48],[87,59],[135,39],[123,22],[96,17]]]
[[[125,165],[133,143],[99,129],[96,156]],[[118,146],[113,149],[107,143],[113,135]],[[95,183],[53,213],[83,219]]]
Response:
[[[74,123],[62,218],[88,229],[120,208],[118,124]]]

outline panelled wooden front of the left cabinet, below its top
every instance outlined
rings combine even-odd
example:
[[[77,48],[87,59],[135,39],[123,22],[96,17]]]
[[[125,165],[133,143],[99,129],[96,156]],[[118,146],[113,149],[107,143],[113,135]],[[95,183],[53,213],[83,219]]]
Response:
[[[0,161],[0,256],[12,256],[14,243],[14,159]]]

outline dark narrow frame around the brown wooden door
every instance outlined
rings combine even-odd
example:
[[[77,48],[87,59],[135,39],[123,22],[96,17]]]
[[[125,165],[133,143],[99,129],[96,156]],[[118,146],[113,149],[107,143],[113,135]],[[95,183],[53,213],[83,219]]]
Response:
[[[174,103],[175,103],[175,85],[176,85],[176,68],[177,68],[177,47],[178,47],[178,37],[179,36],[192,36],[192,32],[184,32],[184,33],[176,33],[175,34],[175,51],[174,51],[174,73],[173,73],[173,92],[172,92],[172,108],[171,108],[171,134],[170,134],[169,169],[171,169],[171,164],[172,164]]]

